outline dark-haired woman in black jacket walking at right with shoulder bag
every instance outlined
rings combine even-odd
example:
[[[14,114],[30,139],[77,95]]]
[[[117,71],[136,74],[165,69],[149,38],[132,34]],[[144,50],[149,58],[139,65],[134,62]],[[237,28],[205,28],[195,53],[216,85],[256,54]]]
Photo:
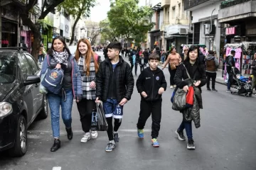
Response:
[[[198,96],[201,96],[201,86],[204,86],[207,80],[206,80],[206,69],[204,65],[201,64],[198,56],[199,56],[198,46],[192,45],[188,50],[188,57],[186,57],[186,60],[184,60],[183,64],[180,64],[178,66],[178,69],[174,77],[174,81],[178,88],[183,89],[185,92],[187,92],[188,81],[186,81],[186,79],[188,79],[188,74],[189,74],[191,79],[193,79],[194,81],[195,89],[196,88],[199,89]],[[186,70],[188,70],[188,74]],[[199,100],[198,100],[198,103],[199,103]],[[187,149],[195,149],[195,145],[193,144],[191,121],[193,120],[195,122],[195,125],[196,123],[198,123],[198,125],[196,125],[196,128],[200,127],[199,108],[202,108],[201,104],[198,104],[196,108],[198,108],[196,113],[193,108],[187,108],[186,110],[181,111],[181,113],[183,113],[183,120],[180,127],[175,132],[176,135],[178,135],[178,140],[185,140],[185,137],[183,135],[183,130],[186,129],[186,135],[188,137]],[[195,114],[197,115],[193,116]],[[193,118],[191,118],[192,116]]]

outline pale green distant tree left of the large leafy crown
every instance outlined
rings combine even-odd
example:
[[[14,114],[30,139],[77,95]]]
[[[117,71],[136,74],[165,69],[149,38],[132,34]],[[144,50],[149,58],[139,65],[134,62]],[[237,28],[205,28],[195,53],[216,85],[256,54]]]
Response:
[[[119,35],[117,34],[117,31],[110,28],[110,21],[108,19],[105,19],[103,21],[100,21],[100,28],[101,28],[101,42],[105,43],[107,41],[114,42],[118,40]]]

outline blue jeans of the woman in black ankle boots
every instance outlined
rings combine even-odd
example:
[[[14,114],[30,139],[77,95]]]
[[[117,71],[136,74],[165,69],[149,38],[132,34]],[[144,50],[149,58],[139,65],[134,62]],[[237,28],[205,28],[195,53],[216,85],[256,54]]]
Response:
[[[53,137],[60,137],[60,106],[61,106],[61,117],[65,128],[71,128],[72,118],[71,111],[73,106],[73,93],[72,90],[66,92],[66,101],[64,97],[56,94],[47,94],[47,99],[50,107],[51,125],[53,129]]]

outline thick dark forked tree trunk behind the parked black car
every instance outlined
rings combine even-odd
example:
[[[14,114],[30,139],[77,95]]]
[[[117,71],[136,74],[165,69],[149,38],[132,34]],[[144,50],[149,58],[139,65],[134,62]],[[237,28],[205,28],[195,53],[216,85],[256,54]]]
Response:
[[[55,10],[55,7],[58,6],[58,4],[60,4],[63,1],[64,0],[44,0],[41,9],[38,8],[38,6],[36,5],[38,0],[22,0],[21,3],[14,2],[17,11],[19,11],[23,25],[28,26],[28,28],[30,28],[31,32],[33,33],[33,47],[31,55],[33,55],[33,57],[35,57],[36,60],[38,59],[38,52],[41,42],[40,28],[43,23],[42,20],[46,18],[48,13],[53,12]],[[29,17],[30,13],[33,13],[34,15],[38,16],[38,20],[36,22],[31,21],[31,18]]]

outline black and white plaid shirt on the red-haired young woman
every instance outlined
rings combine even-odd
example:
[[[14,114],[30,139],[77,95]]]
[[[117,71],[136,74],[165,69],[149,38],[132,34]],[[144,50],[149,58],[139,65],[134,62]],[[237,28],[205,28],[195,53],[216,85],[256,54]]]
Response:
[[[86,98],[87,100],[95,100],[96,99],[96,88],[90,88],[90,82],[95,81],[96,83],[96,72],[95,72],[95,63],[93,57],[90,62],[90,75],[86,76],[86,72],[84,72],[84,57],[80,57],[78,60],[79,72],[82,78],[82,98]]]

